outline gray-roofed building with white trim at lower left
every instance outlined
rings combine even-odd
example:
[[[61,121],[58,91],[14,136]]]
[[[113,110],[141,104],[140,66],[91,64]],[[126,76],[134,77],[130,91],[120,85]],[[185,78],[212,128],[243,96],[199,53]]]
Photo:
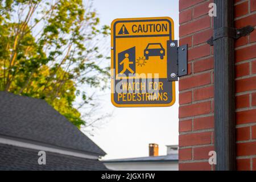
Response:
[[[46,101],[0,92],[0,171],[102,171],[105,154]]]

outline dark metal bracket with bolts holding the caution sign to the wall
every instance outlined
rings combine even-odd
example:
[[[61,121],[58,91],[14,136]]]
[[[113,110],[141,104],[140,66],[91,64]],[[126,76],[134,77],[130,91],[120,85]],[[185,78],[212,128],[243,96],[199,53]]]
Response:
[[[167,41],[167,80],[178,81],[188,75],[188,45],[177,47],[177,40]]]

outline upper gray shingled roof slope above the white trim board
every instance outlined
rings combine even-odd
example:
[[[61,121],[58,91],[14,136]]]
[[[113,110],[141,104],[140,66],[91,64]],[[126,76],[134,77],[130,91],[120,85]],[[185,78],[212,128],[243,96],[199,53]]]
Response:
[[[106,154],[46,101],[8,92],[0,92],[0,135],[91,155]]]

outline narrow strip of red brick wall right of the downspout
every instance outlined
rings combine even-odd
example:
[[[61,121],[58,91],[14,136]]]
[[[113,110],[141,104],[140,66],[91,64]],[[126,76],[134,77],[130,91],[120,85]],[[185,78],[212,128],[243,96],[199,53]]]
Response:
[[[256,26],[256,0],[235,1],[235,26]],[[256,30],[236,42],[237,169],[256,170]]]

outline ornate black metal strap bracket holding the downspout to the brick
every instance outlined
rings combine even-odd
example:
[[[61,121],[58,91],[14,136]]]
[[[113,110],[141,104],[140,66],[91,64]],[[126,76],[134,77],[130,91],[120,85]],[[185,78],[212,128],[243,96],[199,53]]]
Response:
[[[218,28],[217,30],[214,30],[213,37],[207,40],[207,43],[210,44],[210,46],[213,46],[214,40],[217,40],[223,37],[239,39],[242,36],[250,35],[250,32],[252,31],[254,31],[254,27],[252,26],[246,26],[238,29],[230,28],[230,27]]]

